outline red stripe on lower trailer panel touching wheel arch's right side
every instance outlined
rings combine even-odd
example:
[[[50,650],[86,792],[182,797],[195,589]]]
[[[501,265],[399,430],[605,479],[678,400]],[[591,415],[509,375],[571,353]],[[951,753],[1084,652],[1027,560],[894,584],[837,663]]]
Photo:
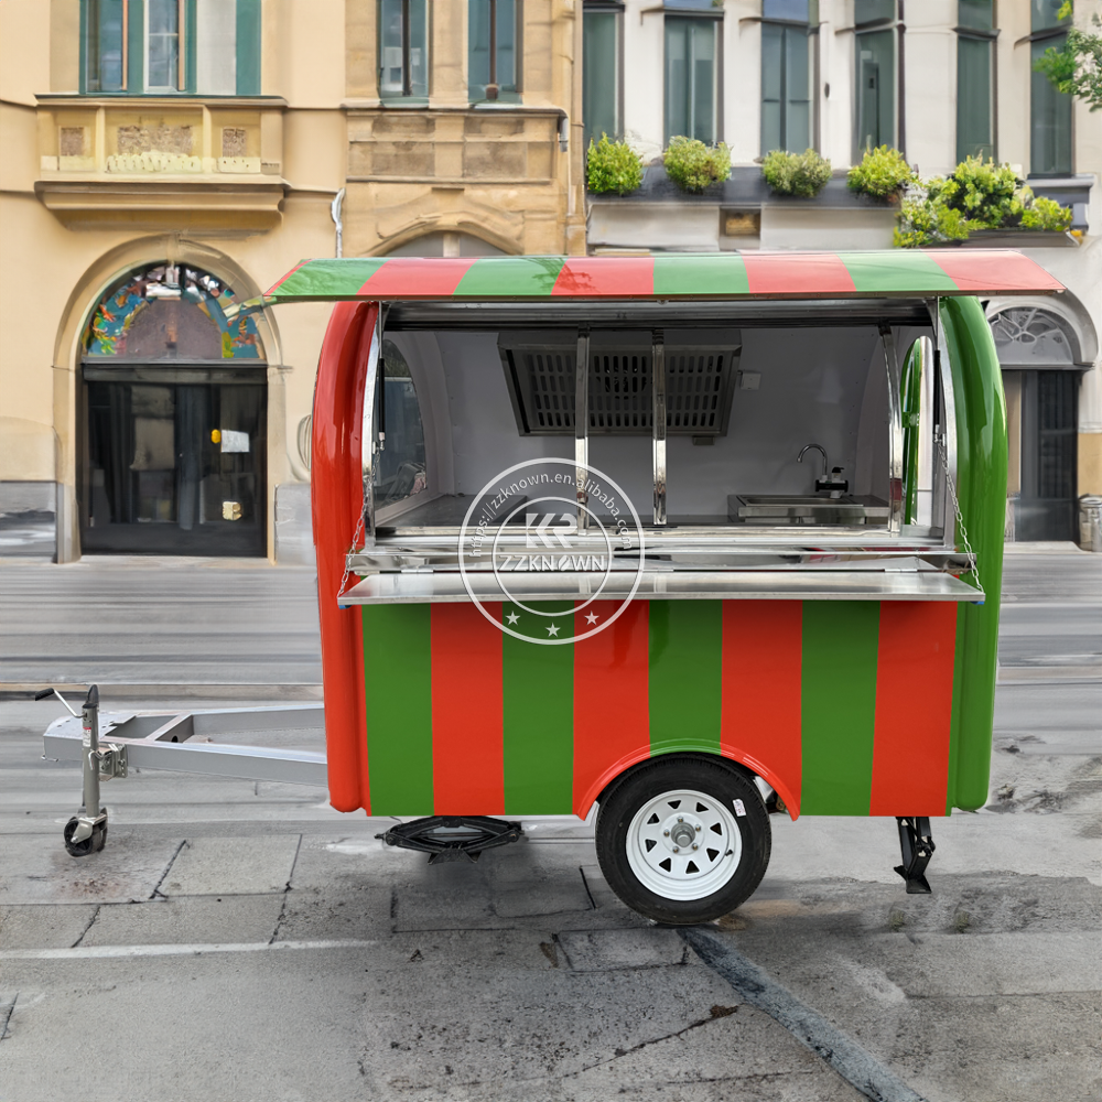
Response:
[[[793,819],[803,767],[802,669],[801,602],[723,603],[720,749],[768,781]]]

